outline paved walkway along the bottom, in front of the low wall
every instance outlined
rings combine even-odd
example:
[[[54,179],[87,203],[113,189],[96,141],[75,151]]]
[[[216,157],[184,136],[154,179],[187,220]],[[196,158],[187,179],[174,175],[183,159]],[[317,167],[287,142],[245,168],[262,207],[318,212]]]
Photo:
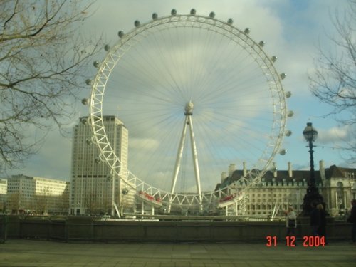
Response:
[[[356,245],[268,247],[258,243],[61,243],[9,239],[0,266],[356,266]]]

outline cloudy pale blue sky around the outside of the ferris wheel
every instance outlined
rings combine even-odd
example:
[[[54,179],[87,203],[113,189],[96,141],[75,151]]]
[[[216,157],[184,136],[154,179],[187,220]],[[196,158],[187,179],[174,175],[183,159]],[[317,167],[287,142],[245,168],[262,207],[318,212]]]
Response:
[[[346,6],[347,1],[344,0],[101,0],[93,4],[93,15],[83,22],[81,30],[95,38],[103,36],[106,43],[112,46],[118,40],[118,31],[129,32],[134,28],[135,20],[141,23],[150,21],[154,12],[158,16],[167,16],[174,8],[178,14],[189,14],[190,9],[194,8],[197,14],[205,16],[214,11],[216,19],[222,21],[234,19],[236,28],[250,28],[253,40],[266,42],[263,50],[268,55],[276,55],[276,69],[279,73],[287,74],[287,78],[283,80],[283,88],[292,93],[287,105],[294,115],[288,118],[286,128],[293,134],[283,139],[282,147],[287,150],[286,155],[276,155],[273,159],[277,169],[287,169],[288,162],[292,163],[293,169],[309,169],[309,153],[306,147],[308,144],[303,139],[303,129],[307,122],[313,122],[313,126],[318,130],[314,149],[315,169],[319,169],[320,160],[324,161],[325,167],[335,164],[355,168],[355,164],[347,163],[345,150],[338,149],[342,146],[342,140],[347,139],[352,132],[347,127],[337,125],[333,117],[325,117],[331,108],[320,103],[310,93],[308,80],[308,75],[313,75],[313,62],[318,58],[318,45],[322,44],[327,51],[332,49],[332,43],[327,36],[334,34],[330,16],[333,16],[336,10],[342,12]],[[104,57],[104,52],[99,56]],[[94,68],[93,73],[88,73],[88,78],[93,78],[93,75]],[[112,80],[115,81],[115,78]],[[89,93],[89,89],[88,92],[83,92],[83,97],[88,97]],[[78,116],[73,118],[73,125],[70,127],[78,123],[78,117],[88,115],[88,107],[78,103],[78,109]],[[120,116],[120,110],[118,114]],[[179,129],[182,129],[182,126]],[[137,142],[133,139],[135,128],[132,127],[129,131],[134,146],[135,141]],[[147,143],[147,140],[145,141]],[[13,169],[8,174],[70,181],[71,145],[70,138],[61,136],[57,129],[53,129],[48,133],[38,154],[28,159],[23,169]],[[237,169],[241,169],[241,162],[246,160],[241,157],[236,159],[236,162],[230,162],[235,163]],[[227,169],[228,164],[226,169],[219,169],[219,172],[227,172]]]

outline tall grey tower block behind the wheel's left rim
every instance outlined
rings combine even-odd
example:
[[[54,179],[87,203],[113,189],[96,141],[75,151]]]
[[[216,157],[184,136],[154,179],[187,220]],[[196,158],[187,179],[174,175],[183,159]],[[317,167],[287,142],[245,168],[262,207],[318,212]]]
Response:
[[[125,201],[121,194],[127,179],[128,130],[115,116],[104,116],[103,122],[110,145],[121,162],[121,179],[100,159],[88,117],[81,117],[73,133],[70,214],[114,215],[113,202],[121,210],[134,206],[133,190],[125,195]]]

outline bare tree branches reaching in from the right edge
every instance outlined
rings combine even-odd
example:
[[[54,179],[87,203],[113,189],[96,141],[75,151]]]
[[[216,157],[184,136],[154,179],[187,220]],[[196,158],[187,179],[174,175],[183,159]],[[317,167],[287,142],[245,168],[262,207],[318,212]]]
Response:
[[[344,13],[335,12],[333,25],[336,35],[328,33],[333,47],[328,50],[319,46],[318,59],[315,61],[315,73],[309,76],[310,90],[323,103],[333,110],[326,114],[333,116],[341,125],[356,130],[356,0],[349,0],[349,9]],[[351,152],[355,160],[356,135],[344,140],[345,149]]]

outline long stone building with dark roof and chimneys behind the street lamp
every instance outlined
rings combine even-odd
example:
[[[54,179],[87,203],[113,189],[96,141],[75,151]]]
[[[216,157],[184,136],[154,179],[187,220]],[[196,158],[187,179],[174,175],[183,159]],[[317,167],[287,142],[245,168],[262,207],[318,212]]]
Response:
[[[227,187],[229,192],[235,194],[244,189],[244,177],[248,170],[246,164],[243,169],[236,170],[234,164],[229,166],[229,175],[221,174],[221,183],[216,190]],[[356,169],[347,169],[335,165],[325,169],[323,161],[319,162],[319,171],[315,171],[315,180],[320,194],[323,195],[330,216],[338,216],[350,211],[350,201],[356,193]],[[283,216],[288,206],[299,214],[303,208],[303,198],[308,188],[309,170],[293,170],[288,163],[287,170],[277,170],[263,175],[261,183],[257,184],[244,194],[244,198],[237,204],[229,206],[231,214],[243,216],[273,217]]]

